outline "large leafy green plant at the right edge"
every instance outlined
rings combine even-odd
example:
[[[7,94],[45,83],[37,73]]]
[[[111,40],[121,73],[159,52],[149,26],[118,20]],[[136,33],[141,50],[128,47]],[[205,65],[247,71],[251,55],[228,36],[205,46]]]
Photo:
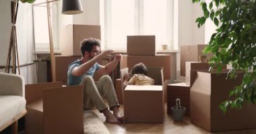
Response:
[[[241,85],[230,91],[229,98],[220,104],[220,109],[226,112],[228,107],[256,104],[256,1],[192,1],[200,3],[203,10],[203,16],[195,20],[197,26],[201,27],[206,19],[211,19],[218,27],[204,50],[205,54],[215,54],[210,65],[216,64],[220,72],[222,63],[231,64],[227,78],[236,78],[236,70],[245,72]]]

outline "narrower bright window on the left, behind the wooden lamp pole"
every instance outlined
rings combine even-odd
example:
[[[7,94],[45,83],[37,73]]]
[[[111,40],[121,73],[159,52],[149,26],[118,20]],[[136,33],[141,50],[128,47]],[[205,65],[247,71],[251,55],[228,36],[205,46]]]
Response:
[[[49,51],[49,26],[46,0],[36,0],[33,5],[34,43],[36,51]],[[57,45],[57,2],[50,3],[50,14],[52,19],[53,46]]]

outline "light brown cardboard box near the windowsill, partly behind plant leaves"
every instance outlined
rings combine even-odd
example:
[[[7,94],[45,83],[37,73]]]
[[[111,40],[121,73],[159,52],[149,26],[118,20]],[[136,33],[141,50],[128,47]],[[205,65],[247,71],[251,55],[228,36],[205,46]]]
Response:
[[[181,76],[186,74],[186,62],[199,62],[198,56],[202,56],[202,50],[207,45],[181,46]],[[207,59],[212,58],[212,54],[207,54]]]

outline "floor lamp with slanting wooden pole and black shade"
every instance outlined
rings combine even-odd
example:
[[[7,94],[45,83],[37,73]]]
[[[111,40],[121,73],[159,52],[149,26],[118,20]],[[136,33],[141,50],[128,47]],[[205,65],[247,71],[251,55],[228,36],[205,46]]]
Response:
[[[51,54],[51,74],[52,74],[52,81],[56,81],[56,74],[55,74],[55,57],[54,57],[54,50],[53,50],[53,31],[52,31],[52,23],[51,23],[51,15],[50,15],[50,3],[59,0],[46,0],[47,6],[47,15],[48,15],[48,25],[49,25],[49,42],[50,42],[50,54]],[[63,0],[62,1],[62,13],[66,15],[73,15],[82,13],[82,4],[80,0]]]

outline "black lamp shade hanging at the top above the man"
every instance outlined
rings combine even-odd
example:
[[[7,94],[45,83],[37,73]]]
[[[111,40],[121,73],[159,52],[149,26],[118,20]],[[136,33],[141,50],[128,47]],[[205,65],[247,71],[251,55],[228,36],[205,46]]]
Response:
[[[63,0],[62,13],[66,15],[83,13],[81,1],[80,0]]]

